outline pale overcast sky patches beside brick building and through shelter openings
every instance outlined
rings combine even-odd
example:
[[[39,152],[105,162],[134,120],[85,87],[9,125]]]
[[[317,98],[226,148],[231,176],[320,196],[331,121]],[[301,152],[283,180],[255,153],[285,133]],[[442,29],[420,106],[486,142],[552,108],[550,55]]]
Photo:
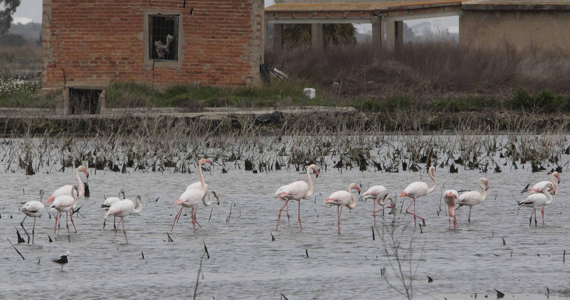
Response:
[[[126,1],[126,0],[125,0]],[[274,0],[265,0],[265,6],[272,5]],[[13,15],[14,23],[42,22],[42,0],[21,0],[21,4]],[[459,26],[457,17],[442,18],[443,24],[447,26]],[[423,22],[422,20],[408,21],[409,26]],[[357,26],[359,31],[368,31],[370,25]]]

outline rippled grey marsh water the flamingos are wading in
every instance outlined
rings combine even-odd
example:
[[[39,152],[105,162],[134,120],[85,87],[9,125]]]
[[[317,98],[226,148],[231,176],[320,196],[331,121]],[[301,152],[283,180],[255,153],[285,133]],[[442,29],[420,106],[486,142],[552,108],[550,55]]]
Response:
[[[561,164],[568,157],[563,155]],[[506,161],[495,158],[499,165]],[[488,295],[494,299],[494,289],[506,294],[505,299],[570,299],[570,190],[565,188],[570,178],[561,173],[560,192],[545,209],[545,225],[541,225],[539,212],[538,226],[534,222],[529,226],[531,209],[522,208],[517,214],[516,200],[527,196],[520,192],[528,183],[548,180],[549,175],[546,171],[532,173],[528,165],[520,167],[504,168],[502,173],[490,169],[484,174],[479,169],[460,168],[458,173],[449,173],[449,168],[437,168],[437,189],[417,200],[416,210],[426,218],[426,226],[414,226],[413,217],[404,213],[408,198],[398,199],[396,216],[388,215],[388,210],[385,216],[379,214],[375,227],[373,202],[357,201],[352,211],[343,209],[339,235],[336,206],[324,204],[329,194],[354,182],[363,192],[371,185],[384,185],[394,196],[413,181],[431,186],[425,169],[398,173],[372,168],[359,171],[357,167],[321,169],[317,179],[311,175],[313,196],[301,202],[301,232],[296,202],[288,206],[291,225],[284,213],[283,226],[275,230],[283,202],[272,195],[281,185],[306,180],[304,172],[283,168],[268,173],[243,169],[222,173],[214,164],[205,173],[205,181],[220,194],[221,203],[213,200],[209,207],[199,205],[197,220],[202,228],[197,226],[196,233],[192,232],[190,210],[184,209],[185,215],[170,233],[172,242],[166,233],[180,209],[173,203],[187,185],[198,181],[197,173],[129,168],[129,173],[123,174],[89,169],[90,197],[80,198],[83,217],[74,218],[78,233],[68,237],[62,220],[59,236],[54,235],[54,218],[50,219],[46,210],[36,222],[33,246],[16,244],[16,228],[23,234],[19,227],[21,202],[38,200],[40,188],[46,190],[47,199],[56,188],[74,184],[75,173],[72,169],[33,176],[3,173],[0,298],[188,299],[196,289],[197,299],[280,299],[281,295],[288,299],[403,299],[405,289],[398,281],[399,273],[390,267],[394,256],[390,260],[386,256],[386,250],[392,250],[381,238],[395,218],[404,232],[402,250],[412,241],[411,259],[400,259],[406,274],[410,264],[415,272],[414,299],[474,299],[475,293],[479,298]],[[442,191],[478,190],[479,177],[489,180],[487,199],[473,208],[471,222],[467,222],[469,209],[459,209],[459,229],[449,229]],[[134,199],[137,194],[143,198],[141,216],[125,217],[128,244],[122,232],[112,242],[112,219],[103,230],[101,203],[105,196],[116,196],[120,188],[125,188],[127,198]],[[30,234],[32,223],[27,218],[25,227]],[[210,258],[203,257],[204,245]],[[565,263],[564,250],[568,252]],[[71,256],[61,271],[51,260],[66,251]],[[428,276],[433,282],[428,283]]]

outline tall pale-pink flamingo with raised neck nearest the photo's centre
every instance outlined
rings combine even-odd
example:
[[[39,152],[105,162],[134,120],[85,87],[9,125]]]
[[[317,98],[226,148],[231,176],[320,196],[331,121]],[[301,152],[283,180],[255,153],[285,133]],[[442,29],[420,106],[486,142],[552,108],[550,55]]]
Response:
[[[313,183],[311,181],[311,175],[310,175],[311,169],[313,170],[313,172],[315,172],[315,178],[319,177],[319,169],[317,169],[317,166],[314,164],[308,166],[307,167],[307,181],[309,183],[308,185],[303,180],[295,181],[294,183],[283,185],[283,187],[277,189],[277,192],[275,192],[275,194],[273,195],[275,198],[285,200],[285,203],[283,204],[283,206],[281,206],[279,214],[277,215],[277,226],[275,226],[275,230],[279,228],[281,213],[283,213],[283,209],[287,206],[289,200],[296,200],[299,202],[299,217],[298,217],[299,227],[301,228],[301,231],[303,231],[303,225],[301,225],[301,199],[306,199],[308,197],[311,197],[311,195],[313,194]],[[288,217],[289,214],[287,213],[287,218]]]

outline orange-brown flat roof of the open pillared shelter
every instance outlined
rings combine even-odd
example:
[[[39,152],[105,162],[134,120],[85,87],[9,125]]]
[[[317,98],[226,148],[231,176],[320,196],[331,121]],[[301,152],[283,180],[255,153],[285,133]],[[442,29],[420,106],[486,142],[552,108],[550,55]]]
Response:
[[[461,1],[432,0],[432,1],[392,1],[392,2],[363,2],[363,3],[276,3],[265,8],[266,12],[280,11],[376,11],[422,9],[429,7],[458,6]]]

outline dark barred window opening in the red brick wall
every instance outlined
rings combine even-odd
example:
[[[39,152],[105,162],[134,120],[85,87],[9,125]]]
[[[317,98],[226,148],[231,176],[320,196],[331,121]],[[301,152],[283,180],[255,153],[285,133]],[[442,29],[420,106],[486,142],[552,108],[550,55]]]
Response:
[[[149,15],[149,59],[178,61],[178,15]]]

